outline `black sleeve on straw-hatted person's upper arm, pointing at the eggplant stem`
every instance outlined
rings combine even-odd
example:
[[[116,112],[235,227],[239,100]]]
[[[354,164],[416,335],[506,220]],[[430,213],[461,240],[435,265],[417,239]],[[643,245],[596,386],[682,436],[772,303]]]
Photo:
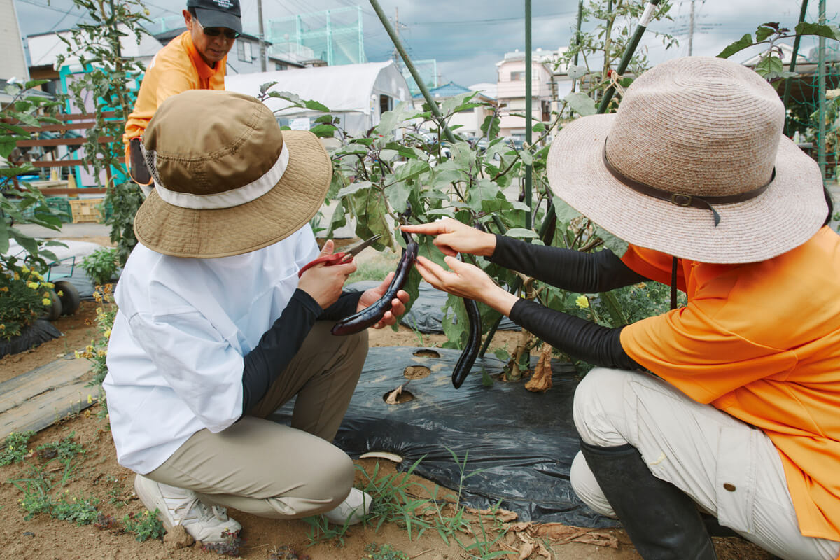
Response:
[[[496,235],[492,263],[517,270],[547,284],[578,293],[595,293],[638,284],[646,279],[622,263],[611,250],[580,253]]]

